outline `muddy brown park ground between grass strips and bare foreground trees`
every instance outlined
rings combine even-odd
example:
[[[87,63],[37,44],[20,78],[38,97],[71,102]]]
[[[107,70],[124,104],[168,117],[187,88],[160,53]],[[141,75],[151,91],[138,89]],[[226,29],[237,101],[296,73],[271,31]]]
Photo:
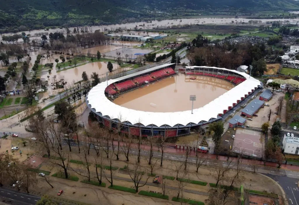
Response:
[[[80,160],[80,157],[77,154],[76,148],[72,149],[72,152],[70,153],[70,158],[69,159],[77,159]],[[90,160],[93,158],[92,156],[89,156]],[[115,158],[115,156],[114,156]],[[115,167],[124,167],[127,165],[127,162],[125,161],[126,158],[125,156],[121,153],[120,154],[120,160],[114,160],[112,162],[112,166]],[[133,168],[133,164],[135,161],[135,156],[130,156],[129,158],[129,168]],[[175,171],[175,166],[173,163],[176,163],[177,165],[179,164],[178,162],[171,162],[168,160],[163,161],[163,167],[160,167],[160,159],[155,159],[153,158],[153,162],[157,161],[157,164],[155,166],[154,173],[156,175],[168,175],[168,176],[176,176],[176,171]],[[222,162],[219,162],[222,163]],[[108,165],[109,161],[105,158],[103,161],[103,165]],[[42,166],[40,169],[42,170],[52,170],[51,175],[59,170],[58,167],[52,168],[51,163],[44,162],[42,163]],[[122,191],[117,191],[113,189],[108,189],[107,187],[109,186],[109,182],[105,179],[105,175],[109,177],[110,171],[109,170],[104,170],[105,175],[103,175],[103,182],[106,183],[106,188],[104,187],[98,187],[94,185],[89,185],[89,184],[83,184],[80,181],[83,180],[85,177],[80,176],[76,174],[72,169],[76,170],[78,172],[78,169],[83,170],[81,174],[85,175],[85,169],[83,168],[82,165],[74,164],[74,163],[69,163],[69,172],[71,175],[77,175],[80,180],[79,182],[75,181],[69,181],[65,179],[60,179],[60,178],[55,178],[52,176],[48,177],[48,180],[50,183],[54,186],[53,189],[45,183],[45,181],[41,180],[33,190],[35,190],[33,193],[38,194],[38,195],[43,195],[43,194],[48,194],[53,197],[57,197],[57,192],[60,189],[64,190],[63,195],[60,198],[64,198],[67,200],[75,200],[75,201],[80,201],[83,203],[88,203],[88,204],[98,204],[99,201],[105,201],[106,204],[179,204],[176,202],[170,201],[173,196],[176,195],[176,191],[172,189],[167,189],[167,195],[169,195],[170,200],[162,200],[158,198],[152,198],[152,197],[145,197],[141,196],[138,194],[132,194],[132,193],[127,193],[127,192],[122,192]],[[145,158],[141,158],[141,166],[147,170],[145,170],[146,173],[149,173],[149,166]],[[193,180],[198,180],[198,181],[205,181],[208,183],[216,183],[216,178],[215,178],[215,168],[210,167],[210,166],[204,166],[199,168],[198,173],[196,173],[196,166],[195,164],[188,164],[188,175],[187,178],[193,179]],[[95,168],[90,167],[91,170],[91,178],[93,180],[96,180],[95,177]],[[223,184],[230,185],[230,180],[229,178],[234,175],[235,171],[231,170],[228,175],[227,175],[227,180],[223,182]],[[126,178],[131,181],[129,174],[126,174],[125,172],[121,172],[119,169],[113,172],[113,176],[115,177],[122,177]],[[154,177],[149,177],[148,182],[151,183],[152,179]],[[243,184],[245,189],[251,189],[254,190],[260,190],[260,191],[267,191],[267,192],[274,192],[277,194],[280,193],[280,189],[273,184],[272,181],[270,181],[268,178],[263,177],[263,175],[257,175],[252,172],[244,172],[242,177],[239,177],[242,179],[242,182],[237,182],[234,184],[234,186],[239,187],[241,183]],[[147,175],[144,175],[143,179],[141,181],[146,181]],[[122,181],[118,179],[113,180],[113,184],[115,185],[120,185],[120,186],[125,186],[125,187],[132,187],[134,188],[134,185],[130,181]],[[265,186],[266,185],[266,186]],[[172,186],[172,187],[177,187],[178,182],[176,180],[167,180],[167,186]],[[185,183],[184,189],[188,190],[194,190],[194,191],[199,191],[199,192],[205,192],[207,193],[208,190],[210,189],[210,186],[200,186],[196,184],[189,184]],[[37,191],[38,190],[38,191]],[[80,190],[80,191],[78,191]],[[162,192],[160,187],[156,186],[150,186],[150,185],[145,185],[143,187],[140,187],[139,190],[146,190],[146,191],[155,191],[155,192]],[[74,193],[75,192],[75,193]],[[86,195],[86,196],[84,196]],[[190,198],[198,201],[204,202],[205,199],[207,199],[206,195],[200,195],[200,194],[193,194],[193,193],[187,193],[184,192],[183,194],[184,198]]]

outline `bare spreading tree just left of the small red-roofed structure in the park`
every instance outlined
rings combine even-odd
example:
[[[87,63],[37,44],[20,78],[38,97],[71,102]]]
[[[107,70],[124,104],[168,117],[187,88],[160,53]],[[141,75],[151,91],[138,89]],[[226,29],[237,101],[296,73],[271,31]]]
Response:
[[[133,173],[130,173],[130,171],[129,171],[129,163],[127,163],[127,170],[129,172],[130,178],[134,182],[136,192],[138,192],[138,188],[146,185],[147,180],[149,179],[149,176],[148,176],[145,183],[142,184],[141,179],[144,177],[144,174],[146,172],[145,172],[145,169],[140,166],[140,164],[138,162],[138,157],[137,157],[137,159],[135,160],[135,163],[134,163]]]

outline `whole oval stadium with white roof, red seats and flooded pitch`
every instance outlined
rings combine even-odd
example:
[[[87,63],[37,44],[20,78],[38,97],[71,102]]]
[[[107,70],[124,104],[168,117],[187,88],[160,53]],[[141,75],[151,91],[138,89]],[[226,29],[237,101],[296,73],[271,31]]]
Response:
[[[163,64],[101,82],[89,91],[87,106],[100,123],[120,132],[174,137],[222,120],[225,113],[262,87],[259,80],[236,70],[192,66],[175,72],[174,68],[175,64]],[[126,99],[131,93],[132,101]],[[194,102],[199,103],[192,113],[189,94],[196,95]]]

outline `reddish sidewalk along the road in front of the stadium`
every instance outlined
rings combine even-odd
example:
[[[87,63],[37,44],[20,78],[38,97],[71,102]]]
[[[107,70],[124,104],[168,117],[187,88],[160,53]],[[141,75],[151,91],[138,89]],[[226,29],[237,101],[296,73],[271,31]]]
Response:
[[[117,146],[118,141],[113,141],[113,144],[115,146]],[[124,145],[124,142],[120,141],[120,146],[123,146],[123,145]],[[130,148],[138,149],[138,144],[131,143]],[[150,150],[150,145],[142,144],[141,149]],[[153,151],[161,152],[161,149],[159,149],[158,147],[152,147],[152,149],[153,149]],[[170,147],[164,147],[164,153],[170,153],[170,154],[176,154],[176,155],[185,155],[185,151],[183,149],[175,149],[175,148],[170,148]],[[214,154],[207,154],[207,155],[209,155],[208,159],[216,159],[216,155],[214,155]],[[196,152],[192,151],[190,153],[190,156],[196,156]],[[230,159],[231,158],[232,157],[230,157]],[[218,155],[218,160],[227,161],[227,157]],[[237,158],[234,157],[233,161],[237,161]],[[252,160],[252,159],[241,159],[241,163],[242,164],[251,164],[251,165],[255,164],[255,165],[264,166],[263,161]],[[266,167],[277,168],[277,163],[275,163],[275,162],[266,162]],[[289,169],[289,170],[292,170],[292,171],[299,171],[299,166],[289,165],[289,164],[282,164],[280,166],[280,168],[281,169]]]

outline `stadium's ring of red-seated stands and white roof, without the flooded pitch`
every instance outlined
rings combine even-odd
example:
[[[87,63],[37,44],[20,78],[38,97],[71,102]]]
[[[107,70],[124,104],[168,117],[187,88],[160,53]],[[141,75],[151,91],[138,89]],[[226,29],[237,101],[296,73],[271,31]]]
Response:
[[[91,113],[100,123],[112,129],[137,136],[173,137],[190,133],[213,121],[262,87],[262,83],[244,72],[226,68],[192,66],[179,69],[185,75],[204,75],[229,81],[234,87],[202,107],[181,112],[145,112],[117,105],[111,99],[176,75],[175,64],[164,64],[120,78],[104,81],[93,87],[86,98]],[[108,86],[107,86],[108,85]],[[167,93],[165,93],[167,95]],[[108,97],[108,98],[107,98]],[[170,99],[172,100],[172,99]],[[165,102],[167,103],[167,102]]]

